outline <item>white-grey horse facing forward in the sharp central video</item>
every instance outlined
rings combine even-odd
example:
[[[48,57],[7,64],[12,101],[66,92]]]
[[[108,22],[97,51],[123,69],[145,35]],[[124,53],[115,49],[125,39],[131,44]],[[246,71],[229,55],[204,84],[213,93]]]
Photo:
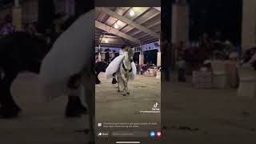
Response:
[[[128,82],[130,78],[133,78],[133,66],[132,62],[134,62],[134,50],[129,49],[128,52],[125,52],[125,58],[122,60],[122,63],[117,72],[118,79],[118,92],[120,92],[120,87],[123,90],[123,95],[130,94],[128,90]]]

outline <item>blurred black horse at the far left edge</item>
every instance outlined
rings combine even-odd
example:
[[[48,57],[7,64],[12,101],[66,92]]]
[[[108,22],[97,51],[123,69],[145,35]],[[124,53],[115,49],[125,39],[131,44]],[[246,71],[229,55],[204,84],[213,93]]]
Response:
[[[42,59],[50,50],[43,38],[15,32],[0,38],[0,117],[13,118],[21,111],[10,93],[10,86],[19,73],[30,71],[38,74]]]

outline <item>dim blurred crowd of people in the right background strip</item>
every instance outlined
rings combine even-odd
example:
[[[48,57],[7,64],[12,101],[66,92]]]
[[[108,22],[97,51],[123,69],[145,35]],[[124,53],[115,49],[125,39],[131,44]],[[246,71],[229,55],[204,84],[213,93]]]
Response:
[[[177,59],[185,59],[186,62],[196,62],[202,64],[207,59],[229,59],[230,53],[234,51],[234,46],[230,41],[222,39],[222,33],[216,32],[213,38],[208,34],[202,34],[198,38],[198,42],[193,42],[190,45],[185,45],[184,42],[179,42],[174,46]]]

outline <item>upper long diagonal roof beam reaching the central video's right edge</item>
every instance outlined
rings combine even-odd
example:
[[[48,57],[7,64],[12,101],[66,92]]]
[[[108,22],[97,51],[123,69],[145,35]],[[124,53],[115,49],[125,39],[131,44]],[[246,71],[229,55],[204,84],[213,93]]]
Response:
[[[118,20],[122,21],[122,22],[125,22],[126,24],[130,25],[130,26],[134,26],[135,28],[137,28],[138,30],[141,30],[147,34],[150,34],[151,36],[153,36],[154,38],[160,38],[160,34],[157,34],[155,33],[154,31],[150,30],[150,29],[147,29],[145,26],[142,26],[142,25],[139,25],[138,23],[136,22],[133,22],[131,21],[130,19],[128,18],[125,18],[125,17],[122,17],[121,15],[115,13],[114,11],[112,10],[109,10],[109,9],[106,9],[106,8],[101,8],[102,9],[102,12],[105,13],[105,14],[108,14],[110,15],[111,17],[113,18],[117,18]]]

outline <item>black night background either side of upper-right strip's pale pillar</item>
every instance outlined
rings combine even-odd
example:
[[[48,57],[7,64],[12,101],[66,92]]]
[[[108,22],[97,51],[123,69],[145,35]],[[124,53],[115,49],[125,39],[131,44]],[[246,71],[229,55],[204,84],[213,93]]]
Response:
[[[170,41],[171,3],[162,0],[162,37]],[[190,4],[190,40],[204,32],[212,36],[221,31],[224,39],[241,44],[242,0],[187,0]]]

